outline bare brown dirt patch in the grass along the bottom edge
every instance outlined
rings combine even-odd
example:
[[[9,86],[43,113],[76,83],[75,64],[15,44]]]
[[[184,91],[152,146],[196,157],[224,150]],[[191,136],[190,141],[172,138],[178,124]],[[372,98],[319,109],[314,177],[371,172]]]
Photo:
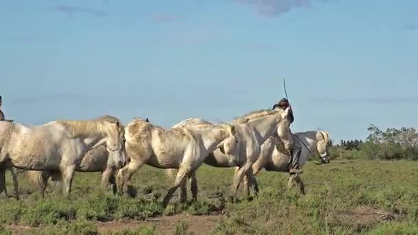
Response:
[[[176,225],[184,222],[188,225],[188,232],[208,234],[208,232],[214,230],[220,219],[221,215],[193,216],[189,214],[176,214],[173,216],[150,218],[146,221],[109,221],[98,222],[96,225],[100,234],[120,232],[125,229],[135,230],[135,228],[144,226],[155,226],[155,230],[162,234],[172,234],[175,231]]]

